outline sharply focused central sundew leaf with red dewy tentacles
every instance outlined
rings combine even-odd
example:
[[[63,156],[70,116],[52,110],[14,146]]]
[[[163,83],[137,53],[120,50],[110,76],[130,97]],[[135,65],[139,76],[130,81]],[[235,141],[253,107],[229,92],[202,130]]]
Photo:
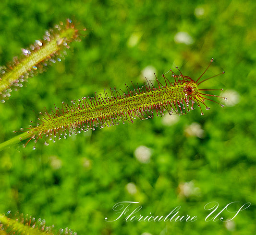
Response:
[[[210,63],[212,62],[213,59]],[[133,119],[136,117],[141,120],[152,118],[154,112],[157,116],[164,115],[164,112],[168,112],[170,115],[183,115],[183,113],[186,114],[190,110],[194,110],[195,103],[200,108],[201,115],[203,115],[201,104],[206,107],[206,110],[209,110],[210,108],[205,104],[205,101],[212,101],[206,98],[207,96],[227,100],[226,97],[202,93],[204,90],[214,90],[198,88],[200,83],[209,79],[199,81],[204,73],[194,81],[188,76],[183,76],[183,74],[177,76],[172,72],[175,82],[171,83],[162,75],[165,81],[164,86],[157,79],[156,88],[151,81],[151,86],[147,81],[147,84],[144,83],[144,86],[137,89],[134,87],[134,90],[126,86],[128,93],[122,90],[110,89],[110,96],[105,91],[105,97],[103,98],[101,95],[95,95],[92,98],[83,97],[81,100],[72,101],[71,106],[62,102],[61,109],[55,107],[55,110],[51,110],[50,113],[47,110],[44,113],[40,112],[41,117],[38,117],[38,120],[41,123],[37,123],[36,127],[31,125],[30,129],[19,138],[20,140],[29,138],[28,142],[35,139],[35,143],[37,143],[37,140],[45,135],[45,145],[49,145],[49,140],[55,142],[56,139],[61,139],[62,135],[66,138],[68,134],[71,136],[71,134],[79,134],[81,131],[95,130],[95,127],[98,126],[103,128],[104,126],[118,125],[120,122],[124,124],[124,121],[127,120],[133,123]],[[123,94],[121,95],[120,92]],[[223,104],[220,104],[220,106],[224,107]],[[36,146],[33,147],[33,149],[35,148]]]

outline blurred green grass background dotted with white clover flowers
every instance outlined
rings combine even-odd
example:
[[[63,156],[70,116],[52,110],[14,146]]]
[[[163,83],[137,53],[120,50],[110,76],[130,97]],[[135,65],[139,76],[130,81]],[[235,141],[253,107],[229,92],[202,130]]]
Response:
[[[66,140],[13,145],[0,152],[0,213],[43,218],[80,235],[254,234],[256,231],[256,2],[240,0],[2,0],[0,64],[6,65],[41,39],[45,30],[71,18],[88,30],[68,56],[29,79],[0,104],[0,143],[36,121],[33,112],[103,89],[143,84],[178,66],[198,78],[214,62],[201,88],[223,88],[225,108],[184,116],[154,117],[97,129]],[[220,94],[220,91],[212,92]],[[223,103],[219,98],[215,101]],[[140,201],[140,213],[181,215],[195,222],[125,222],[112,210]],[[228,203],[231,222],[205,222],[204,206]],[[136,206],[131,207],[132,212]],[[224,220],[234,213],[223,213]]]

